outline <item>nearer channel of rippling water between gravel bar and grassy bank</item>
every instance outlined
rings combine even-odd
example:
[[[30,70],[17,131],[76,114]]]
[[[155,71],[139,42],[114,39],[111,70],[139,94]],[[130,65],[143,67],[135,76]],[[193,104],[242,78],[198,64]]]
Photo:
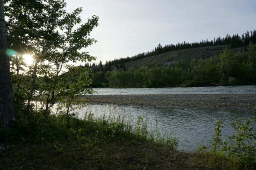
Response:
[[[104,113],[109,114],[115,112],[118,115],[130,116],[135,122],[138,116],[147,119],[149,128],[161,129],[162,134],[174,133],[179,138],[179,149],[193,151],[196,149],[196,142],[209,145],[209,141],[214,132],[216,122],[221,120],[224,126],[222,134],[232,135],[235,131],[231,128],[230,123],[236,118],[250,118],[252,113],[244,111],[225,111],[225,110],[189,110],[189,109],[168,109],[168,108],[138,108],[131,106],[107,106],[107,105],[91,105],[83,107],[80,111],[80,117],[84,117],[85,113],[92,112],[96,117],[100,117]],[[254,127],[255,127],[254,122]],[[225,138],[225,135],[222,135]],[[223,139],[224,140],[224,139]],[[188,142],[185,142],[188,141]],[[208,141],[208,142],[207,142]],[[201,143],[202,142],[202,143]],[[185,144],[185,145],[183,145]]]

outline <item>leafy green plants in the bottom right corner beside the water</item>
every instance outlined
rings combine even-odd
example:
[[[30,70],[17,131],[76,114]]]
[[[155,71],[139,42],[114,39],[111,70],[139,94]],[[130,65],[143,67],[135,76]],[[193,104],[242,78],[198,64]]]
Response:
[[[214,134],[210,141],[210,147],[198,145],[200,159],[203,162],[212,164],[213,169],[220,169],[217,165],[224,165],[224,169],[255,169],[256,166],[256,129],[252,119],[236,119],[231,126],[235,134],[222,141],[221,121],[216,123]],[[195,154],[195,153],[194,153]]]

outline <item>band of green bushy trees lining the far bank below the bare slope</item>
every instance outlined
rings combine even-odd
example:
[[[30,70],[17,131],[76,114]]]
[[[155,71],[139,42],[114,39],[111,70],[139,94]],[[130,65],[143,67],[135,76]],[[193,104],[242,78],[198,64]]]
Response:
[[[256,84],[256,45],[250,43],[248,51],[242,53],[233,53],[226,48],[208,59],[181,59],[173,68],[143,66],[106,71],[102,67],[98,72],[91,73],[90,77],[93,87],[110,88]]]

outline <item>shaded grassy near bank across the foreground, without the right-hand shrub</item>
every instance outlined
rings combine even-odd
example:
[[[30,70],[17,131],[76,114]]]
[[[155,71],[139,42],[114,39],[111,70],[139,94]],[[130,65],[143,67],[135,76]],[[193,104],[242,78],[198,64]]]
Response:
[[[214,150],[186,153],[177,150],[172,135],[147,131],[146,119],[140,116],[132,125],[129,118],[115,114],[95,118],[88,113],[84,119],[51,115],[46,120],[40,113],[20,113],[11,130],[0,129],[0,142],[6,142],[0,169],[254,169],[255,159],[242,162],[218,150],[219,127],[211,143]]]

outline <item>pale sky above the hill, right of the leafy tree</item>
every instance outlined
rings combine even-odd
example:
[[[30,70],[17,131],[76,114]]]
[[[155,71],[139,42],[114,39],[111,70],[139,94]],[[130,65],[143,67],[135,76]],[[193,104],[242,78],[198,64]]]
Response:
[[[160,43],[213,40],[256,29],[256,0],[65,0],[82,22],[96,15],[90,34],[98,42],[83,51],[108,60],[151,51]]]

